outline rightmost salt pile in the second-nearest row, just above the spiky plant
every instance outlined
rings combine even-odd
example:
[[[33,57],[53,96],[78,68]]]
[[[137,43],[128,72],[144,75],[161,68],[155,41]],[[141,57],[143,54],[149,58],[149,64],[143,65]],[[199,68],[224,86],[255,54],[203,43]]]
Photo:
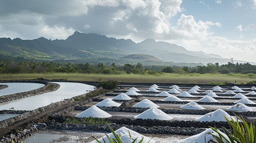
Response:
[[[231,116],[229,114],[227,114],[227,112],[221,110],[221,109],[218,109],[218,110],[215,110],[213,112],[210,112],[210,113],[207,113],[197,119],[195,119],[196,121],[226,121],[225,118],[223,117],[223,115],[229,119],[231,121]]]

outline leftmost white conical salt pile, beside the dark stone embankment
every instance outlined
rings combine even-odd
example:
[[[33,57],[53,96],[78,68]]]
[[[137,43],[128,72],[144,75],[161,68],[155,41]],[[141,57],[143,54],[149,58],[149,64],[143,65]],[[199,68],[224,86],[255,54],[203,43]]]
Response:
[[[109,118],[112,115],[108,114],[107,112],[101,110],[97,106],[92,106],[85,111],[81,112],[80,114],[76,115],[79,118],[87,118],[87,117],[94,117],[94,118]]]

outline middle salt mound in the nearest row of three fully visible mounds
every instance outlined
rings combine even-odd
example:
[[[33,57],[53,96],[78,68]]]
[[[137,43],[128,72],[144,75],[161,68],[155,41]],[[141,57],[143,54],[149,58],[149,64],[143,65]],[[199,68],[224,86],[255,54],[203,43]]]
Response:
[[[152,107],[141,114],[138,114],[134,117],[135,119],[157,119],[157,120],[171,120],[173,117],[169,116],[162,110],[159,110],[155,107]]]

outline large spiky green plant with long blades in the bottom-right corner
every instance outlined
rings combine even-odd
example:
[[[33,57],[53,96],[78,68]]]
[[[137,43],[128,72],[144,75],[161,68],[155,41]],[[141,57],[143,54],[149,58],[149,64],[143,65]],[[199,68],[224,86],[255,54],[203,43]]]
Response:
[[[214,139],[216,139],[217,142],[215,141],[210,141],[212,143],[256,143],[256,128],[254,123],[250,122],[249,124],[245,121],[243,117],[241,117],[241,121],[243,123],[239,123],[238,119],[239,117],[236,115],[237,119],[234,121],[232,119],[229,121],[226,117],[224,117],[227,122],[229,123],[229,126],[231,128],[231,133],[224,127],[224,133],[227,135],[227,137],[223,136],[220,131],[214,127],[211,129],[217,133],[211,134]]]

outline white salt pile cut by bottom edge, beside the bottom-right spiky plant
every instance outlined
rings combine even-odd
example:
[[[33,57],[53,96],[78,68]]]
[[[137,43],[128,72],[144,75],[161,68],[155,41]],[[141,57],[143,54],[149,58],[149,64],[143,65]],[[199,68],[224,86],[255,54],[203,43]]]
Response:
[[[218,135],[218,133],[216,133],[211,128],[209,128],[209,129],[205,130],[204,132],[201,132],[200,134],[196,134],[196,135],[190,136],[186,139],[182,139],[182,140],[178,141],[178,143],[209,143],[209,141],[217,142],[216,139],[214,139],[211,134],[208,134],[209,132],[211,132],[215,135]],[[223,136],[225,136],[226,139],[228,139],[227,135],[224,134],[223,132],[220,132],[220,134],[222,134]],[[224,139],[223,139],[223,141],[224,141]]]

